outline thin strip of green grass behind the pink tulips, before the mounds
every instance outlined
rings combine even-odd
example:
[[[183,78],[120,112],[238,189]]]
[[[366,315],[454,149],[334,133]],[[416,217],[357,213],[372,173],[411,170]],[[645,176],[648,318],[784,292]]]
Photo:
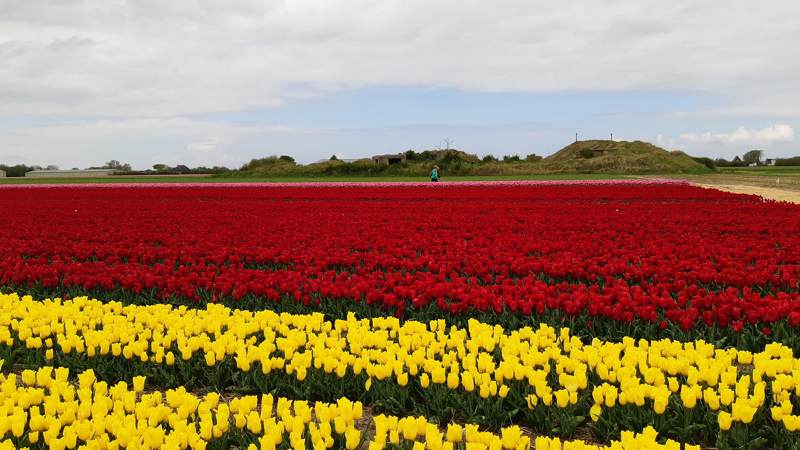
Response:
[[[513,181],[513,180],[613,180],[627,178],[622,174],[547,174],[547,175],[487,175],[442,177],[442,181]],[[104,178],[0,178],[0,184],[113,184],[113,183],[292,183],[292,182],[381,182],[381,181],[429,181],[427,177],[381,176],[381,177],[125,177]]]

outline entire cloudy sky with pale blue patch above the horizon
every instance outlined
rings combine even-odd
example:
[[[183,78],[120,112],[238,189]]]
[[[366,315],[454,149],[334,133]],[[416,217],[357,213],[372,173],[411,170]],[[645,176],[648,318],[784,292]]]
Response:
[[[800,2],[0,0],[0,163],[800,155]]]

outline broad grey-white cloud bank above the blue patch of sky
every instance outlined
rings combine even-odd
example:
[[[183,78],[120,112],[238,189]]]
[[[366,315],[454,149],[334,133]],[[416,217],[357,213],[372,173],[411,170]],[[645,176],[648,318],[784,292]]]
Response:
[[[7,115],[168,117],[373,85],[768,98],[800,79],[786,54],[800,43],[793,0],[0,0],[0,11]],[[796,91],[763,106],[797,104]]]

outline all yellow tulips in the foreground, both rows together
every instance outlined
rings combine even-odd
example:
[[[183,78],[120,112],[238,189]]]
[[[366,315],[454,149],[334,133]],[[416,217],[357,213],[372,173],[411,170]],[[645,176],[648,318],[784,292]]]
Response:
[[[76,436],[100,446],[91,448],[584,448],[543,440],[553,429],[569,435],[577,417],[588,417],[612,448],[661,448],[655,429],[677,441],[697,433],[788,439],[800,429],[800,359],[780,344],[753,353],[702,341],[583,343],[547,325],[504,330],[472,320],[459,328],[352,314],[330,321],[3,294],[0,349],[6,365],[41,367],[4,379],[7,436],[50,448],[74,448]],[[170,390],[143,391],[145,376]],[[226,402],[216,390],[240,396]],[[372,423],[357,428],[363,404]],[[30,405],[44,409],[28,412]],[[59,415],[69,419],[56,427]],[[453,431],[459,423],[466,433]],[[647,431],[631,434],[631,423]],[[378,433],[366,442],[365,430]]]

